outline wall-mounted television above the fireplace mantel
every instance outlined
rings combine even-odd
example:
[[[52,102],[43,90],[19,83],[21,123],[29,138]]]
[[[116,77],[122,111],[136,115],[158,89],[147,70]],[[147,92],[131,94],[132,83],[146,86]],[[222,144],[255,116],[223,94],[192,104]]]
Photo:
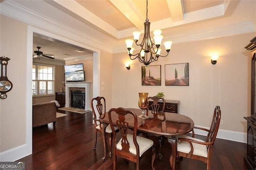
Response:
[[[83,63],[64,65],[64,68],[66,81],[85,81]]]

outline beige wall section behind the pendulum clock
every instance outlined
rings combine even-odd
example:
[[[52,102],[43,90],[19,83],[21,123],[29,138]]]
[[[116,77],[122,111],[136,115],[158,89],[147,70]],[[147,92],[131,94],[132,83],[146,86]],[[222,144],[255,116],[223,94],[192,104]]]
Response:
[[[3,152],[26,143],[27,25],[0,15],[0,36],[0,56],[10,58],[7,77],[13,84],[7,98],[0,99]]]

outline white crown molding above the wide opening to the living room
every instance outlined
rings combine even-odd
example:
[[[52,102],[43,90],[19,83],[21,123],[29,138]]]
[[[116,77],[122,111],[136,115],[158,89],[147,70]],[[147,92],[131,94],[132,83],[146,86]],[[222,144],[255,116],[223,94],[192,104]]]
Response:
[[[45,17],[41,14],[38,14],[37,12],[31,11],[28,8],[25,8],[11,0],[1,2],[0,9],[1,9],[0,14],[19,20],[30,26],[38,27],[48,32],[52,32],[54,34],[67,37],[70,40],[74,40],[76,42],[86,44],[96,49],[101,49],[109,53],[112,52],[112,47],[110,45],[96,38],[93,38],[88,34],[84,34],[82,32],[79,32],[78,30],[70,28],[64,24],[61,24],[60,22],[56,22],[51,18]],[[62,30],[62,31],[55,32],[55,30]]]

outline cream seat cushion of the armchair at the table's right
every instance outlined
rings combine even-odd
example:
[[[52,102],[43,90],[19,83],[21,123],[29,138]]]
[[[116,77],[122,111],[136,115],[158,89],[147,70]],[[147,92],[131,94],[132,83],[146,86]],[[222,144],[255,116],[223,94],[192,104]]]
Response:
[[[204,140],[200,140],[197,138],[192,138],[190,136],[186,136],[186,135],[179,135],[177,136],[178,138],[188,138],[188,139],[192,139],[192,140],[196,140],[196,141],[200,141],[200,142],[205,142]],[[196,143],[192,143],[193,147],[194,147],[194,155],[198,155],[198,156],[204,156],[207,158],[207,147],[206,145],[202,145],[202,144],[196,144]],[[190,152],[191,148],[190,148],[190,144],[188,142],[182,141],[182,142],[177,142],[177,150],[178,152],[184,152],[184,153],[188,153]]]

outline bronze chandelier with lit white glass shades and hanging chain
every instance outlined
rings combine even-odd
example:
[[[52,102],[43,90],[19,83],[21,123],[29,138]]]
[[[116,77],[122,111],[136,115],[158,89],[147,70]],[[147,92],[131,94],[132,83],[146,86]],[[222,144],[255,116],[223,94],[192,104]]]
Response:
[[[155,30],[153,32],[154,34],[154,43],[152,42],[152,39],[150,38],[150,22],[148,22],[148,0],[146,1],[146,22],[144,22],[144,37],[140,44],[138,44],[139,38],[140,38],[140,32],[136,31],[133,32],[134,40],[128,39],[125,40],[126,46],[128,49],[128,53],[130,56],[130,59],[136,59],[141,63],[144,63],[144,65],[149,65],[153,61],[157,61],[158,57],[166,57],[169,54],[169,51],[172,46],[172,41],[164,42],[164,46],[166,49],[167,54],[166,55],[160,55],[161,49],[159,48],[163,39],[163,36],[161,35],[161,30]],[[132,43],[135,42],[137,46],[140,46],[140,51],[136,54],[132,54],[134,47],[132,47]],[[155,46],[155,47],[154,47]]]

